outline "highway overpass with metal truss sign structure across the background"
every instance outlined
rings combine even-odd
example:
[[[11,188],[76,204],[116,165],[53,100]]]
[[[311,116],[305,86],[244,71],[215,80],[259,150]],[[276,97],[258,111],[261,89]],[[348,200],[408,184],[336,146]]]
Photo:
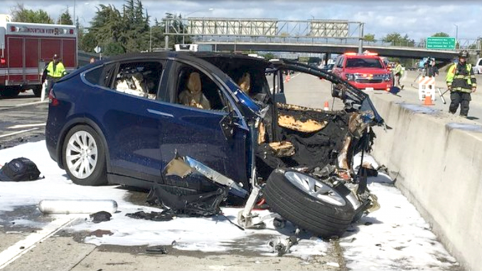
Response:
[[[212,51],[277,51],[339,54],[365,50],[382,56],[450,61],[456,50],[427,49],[424,42],[402,44],[367,42],[363,22],[347,20],[279,20],[276,18],[164,18],[168,38],[184,43],[186,37]],[[405,44],[404,44],[405,43]],[[459,48],[479,54],[481,38],[459,39]]]

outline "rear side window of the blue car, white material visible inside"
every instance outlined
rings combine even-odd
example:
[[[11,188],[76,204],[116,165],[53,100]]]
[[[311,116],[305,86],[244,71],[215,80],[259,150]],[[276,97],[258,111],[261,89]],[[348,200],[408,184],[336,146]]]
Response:
[[[112,89],[129,95],[156,100],[161,82],[162,64],[157,61],[121,63]]]

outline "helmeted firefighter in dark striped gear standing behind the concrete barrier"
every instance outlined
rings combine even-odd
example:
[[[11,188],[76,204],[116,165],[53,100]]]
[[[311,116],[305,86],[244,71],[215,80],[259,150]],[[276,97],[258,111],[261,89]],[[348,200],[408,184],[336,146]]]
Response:
[[[468,51],[459,53],[459,63],[454,63],[447,73],[446,83],[450,90],[449,112],[455,114],[460,104],[460,116],[467,117],[471,92],[476,92],[477,81],[473,74],[472,65],[466,63]]]

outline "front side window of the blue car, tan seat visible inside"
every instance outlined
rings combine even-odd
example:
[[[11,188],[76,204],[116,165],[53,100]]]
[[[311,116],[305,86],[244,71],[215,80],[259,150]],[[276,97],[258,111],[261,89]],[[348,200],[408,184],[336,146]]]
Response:
[[[184,65],[177,79],[175,103],[204,110],[227,110],[220,86],[205,73]]]

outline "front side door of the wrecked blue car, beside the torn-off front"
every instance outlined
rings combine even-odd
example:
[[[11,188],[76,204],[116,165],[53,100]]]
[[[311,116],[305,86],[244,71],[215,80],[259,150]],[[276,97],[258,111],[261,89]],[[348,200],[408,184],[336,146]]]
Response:
[[[206,65],[210,65],[205,63]],[[168,163],[176,152],[218,171],[242,184],[247,181],[247,137],[248,129],[244,118],[235,107],[227,85],[213,73],[188,63],[173,61],[170,68],[168,98],[170,107],[164,107],[161,119],[161,153]],[[189,91],[191,73],[200,75],[202,99],[198,106],[182,104],[181,92]],[[202,105],[202,106],[201,106]],[[208,108],[205,108],[209,105]],[[235,116],[232,137],[226,137],[221,122],[229,114]]]

